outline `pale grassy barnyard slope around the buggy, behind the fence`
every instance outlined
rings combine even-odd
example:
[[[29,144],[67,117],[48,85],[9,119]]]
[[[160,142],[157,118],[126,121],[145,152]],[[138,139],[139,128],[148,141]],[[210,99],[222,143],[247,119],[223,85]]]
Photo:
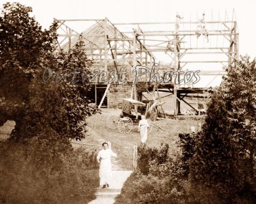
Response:
[[[102,144],[104,141],[112,143],[112,150],[118,154],[113,158],[113,169],[132,169],[132,148],[139,143],[140,135],[137,126],[128,134],[121,134],[117,129],[110,130],[106,124],[106,117],[110,113],[120,113],[119,109],[102,109],[102,114],[97,114],[87,119],[88,136],[82,141],[84,143]],[[165,131],[152,130],[148,134],[147,144],[149,146],[159,146],[161,143],[170,145],[170,152],[177,150],[175,141],[179,132],[187,132],[190,126],[197,125],[192,119],[164,119],[156,121],[155,124]]]

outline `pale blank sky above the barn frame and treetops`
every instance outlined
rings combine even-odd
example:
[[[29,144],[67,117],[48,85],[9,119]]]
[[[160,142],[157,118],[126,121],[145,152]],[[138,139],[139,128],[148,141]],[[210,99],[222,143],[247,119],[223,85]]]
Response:
[[[2,5],[5,0],[0,0]],[[13,2],[13,1],[10,1]],[[205,20],[228,19],[238,23],[239,54],[256,57],[255,0],[20,0],[33,9],[35,19],[48,28],[57,19],[104,19],[110,22],[174,22],[176,13],[187,21],[205,13]],[[218,15],[220,13],[220,15]],[[192,16],[192,17],[190,17]],[[197,17],[198,16],[198,17]],[[227,17],[226,17],[227,18]],[[82,29],[84,30],[84,29]],[[81,30],[81,31],[82,31]]]

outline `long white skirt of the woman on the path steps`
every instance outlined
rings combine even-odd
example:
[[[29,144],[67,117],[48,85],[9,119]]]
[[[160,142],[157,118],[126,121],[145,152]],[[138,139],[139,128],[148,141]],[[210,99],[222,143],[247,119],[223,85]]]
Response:
[[[112,177],[111,160],[102,159],[99,165],[99,185],[110,183]]]

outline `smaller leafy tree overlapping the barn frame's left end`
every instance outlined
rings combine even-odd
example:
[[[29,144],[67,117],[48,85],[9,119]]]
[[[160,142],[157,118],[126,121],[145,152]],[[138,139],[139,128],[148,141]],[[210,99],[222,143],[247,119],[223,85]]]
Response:
[[[70,52],[57,53],[55,58],[57,65],[53,75],[56,77],[51,80],[57,80],[62,87],[61,98],[68,117],[68,135],[73,139],[82,139],[86,132],[86,117],[99,113],[87,97],[91,90],[89,67],[92,61],[86,56],[81,38]]]

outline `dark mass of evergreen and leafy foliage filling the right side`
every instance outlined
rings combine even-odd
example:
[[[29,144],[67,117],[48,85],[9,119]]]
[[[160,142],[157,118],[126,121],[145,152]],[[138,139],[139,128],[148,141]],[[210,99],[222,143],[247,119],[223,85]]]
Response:
[[[210,189],[218,199],[235,202],[256,193],[255,59],[241,57],[226,71],[211,95],[203,131],[196,136],[190,181],[195,197]]]

